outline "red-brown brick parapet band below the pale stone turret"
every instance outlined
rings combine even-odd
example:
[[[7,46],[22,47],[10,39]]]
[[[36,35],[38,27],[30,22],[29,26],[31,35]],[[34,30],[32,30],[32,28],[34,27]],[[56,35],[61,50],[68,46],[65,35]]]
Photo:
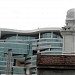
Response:
[[[75,55],[37,55],[37,66],[75,69]]]

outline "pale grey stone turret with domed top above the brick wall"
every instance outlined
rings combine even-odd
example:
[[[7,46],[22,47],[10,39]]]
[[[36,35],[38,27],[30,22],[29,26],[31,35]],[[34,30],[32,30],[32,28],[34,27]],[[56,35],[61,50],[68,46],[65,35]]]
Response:
[[[70,9],[66,16],[66,26],[61,30],[63,36],[63,54],[75,54],[75,9]]]

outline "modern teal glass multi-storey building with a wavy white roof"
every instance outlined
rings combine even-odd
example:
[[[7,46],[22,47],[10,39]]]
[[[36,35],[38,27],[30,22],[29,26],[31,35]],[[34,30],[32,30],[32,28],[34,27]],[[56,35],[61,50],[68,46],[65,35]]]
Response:
[[[63,38],[60,28],[39,28],[31,31],[0,29],[0,73],[37,74],[37,53],[62,54]],[[11,49],[11,65],[8,51]]]

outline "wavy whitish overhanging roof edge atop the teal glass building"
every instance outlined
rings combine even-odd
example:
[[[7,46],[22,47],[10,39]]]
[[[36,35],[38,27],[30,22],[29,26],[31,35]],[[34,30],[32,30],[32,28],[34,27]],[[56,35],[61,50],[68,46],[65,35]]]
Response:
[[[15,30],[0,28],[1,33],[4,34],[36,34],[38,32],[48,32],[48,31],[60,31],[61,28],[38,28],[35,30]]]

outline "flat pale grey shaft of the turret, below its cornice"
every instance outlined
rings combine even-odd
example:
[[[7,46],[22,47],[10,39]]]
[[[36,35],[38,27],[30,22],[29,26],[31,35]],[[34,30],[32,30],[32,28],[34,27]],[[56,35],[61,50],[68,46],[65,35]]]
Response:
[[[67,34],[67,33],[63,36],[64,36],[63,53],[65,54],[74,53],[74,36],[72,34]]]

